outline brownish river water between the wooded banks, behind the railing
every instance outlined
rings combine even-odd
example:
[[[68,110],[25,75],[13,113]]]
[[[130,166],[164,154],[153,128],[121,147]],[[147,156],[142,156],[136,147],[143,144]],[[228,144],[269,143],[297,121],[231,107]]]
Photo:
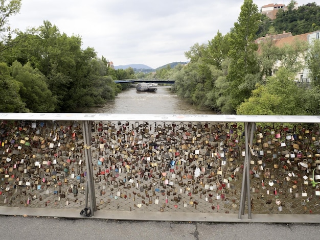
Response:
[[[81,112],[129,113],[129,114],[214,114],[210,109],[199,108],[179,99],[170,88],[154,92],[138,92],[130,88],[120,92],[115,100],[104,106],[85,108]]]

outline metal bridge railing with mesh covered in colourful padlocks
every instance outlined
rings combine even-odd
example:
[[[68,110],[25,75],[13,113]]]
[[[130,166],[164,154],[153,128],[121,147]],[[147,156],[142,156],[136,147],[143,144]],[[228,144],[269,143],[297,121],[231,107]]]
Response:
[[[319,116],[1,113],[0,119],[2,206],[89,205],[93,212],[131,212],[132,219],[165,211],[184,221],[195,216],[185,213],[209,214],[205,221],[216,221],[212,213],[222,214],[220,221],[226,213],[238,219],[319,213]]]

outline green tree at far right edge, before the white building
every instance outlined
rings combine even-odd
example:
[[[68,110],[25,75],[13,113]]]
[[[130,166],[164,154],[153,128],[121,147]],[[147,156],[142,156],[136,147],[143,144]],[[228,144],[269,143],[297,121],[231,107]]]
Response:
[[[320,87],[320,41],[315,39],[308,54],[306,55],[306,64],[309,68],[308,77],[313,87]]]

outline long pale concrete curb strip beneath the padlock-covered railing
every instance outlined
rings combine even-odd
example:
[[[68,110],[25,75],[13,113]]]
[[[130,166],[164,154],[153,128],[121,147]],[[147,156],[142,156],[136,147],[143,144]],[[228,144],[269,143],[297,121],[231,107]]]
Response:
[[[85,218],[79,209],[43,209],[25,207],[0,207],[1,215],[28,215],[29,217]],[[131,212],[98,210],[87,219],[113,219],[132,221],[174,221],[174,222],[220,222],[220,223],[319,223],[320,215],[304,214],[252,214],[252,219],[230,213],[192,213],[192,212]]]

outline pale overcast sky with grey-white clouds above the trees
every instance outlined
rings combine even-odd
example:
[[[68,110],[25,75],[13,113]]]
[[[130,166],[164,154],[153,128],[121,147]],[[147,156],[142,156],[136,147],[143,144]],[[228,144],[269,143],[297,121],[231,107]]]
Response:
[[[263,5],[288,5],[290,0],[254,0]],[[297,0],[299,6],[308,0]],[[82,49],[93,47],[114,65],[145,64],[156,68],[187,61],[184,52],[208,43],[237,21],[243,0],[22,0],[11,28],[25,31],[44,20],[60,33],[82,38]]]

